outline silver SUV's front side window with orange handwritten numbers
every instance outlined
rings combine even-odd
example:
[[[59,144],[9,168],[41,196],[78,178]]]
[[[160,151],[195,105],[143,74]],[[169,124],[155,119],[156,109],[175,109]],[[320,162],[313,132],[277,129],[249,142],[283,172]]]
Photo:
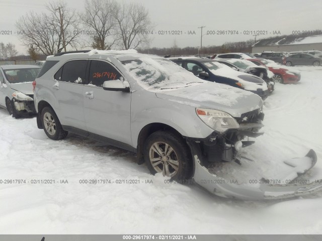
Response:
[[[104,81],[120,79],[121,74],[109,63],[92,60],[89,84],[103,87]]]

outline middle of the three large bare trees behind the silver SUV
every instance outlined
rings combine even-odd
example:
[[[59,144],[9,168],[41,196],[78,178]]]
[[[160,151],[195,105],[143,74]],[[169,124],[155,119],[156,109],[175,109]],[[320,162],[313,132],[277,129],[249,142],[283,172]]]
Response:
[[[114,0],[85,1],[85,12],[81,14],[84,24],[95,31],[92,47],[100,50],[110,49],[117,41],[115,20],[117,10]]]

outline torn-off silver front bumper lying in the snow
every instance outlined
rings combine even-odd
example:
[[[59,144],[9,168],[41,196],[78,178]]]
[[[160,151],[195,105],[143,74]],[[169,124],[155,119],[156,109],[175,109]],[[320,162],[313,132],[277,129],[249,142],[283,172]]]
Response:
[[[301,174],[306,173],[316,163],[316,154],[310,150],[305,157],[290,159],[284,163],[292,167],[289,173],[282,173],[276,178],[262,179],[260,184],[246,185],[236,184],[233,180],[225,180],[209,172],[202,166],[199,159],[200,153],[192,147],[194,159],[194,181],[209,192],[226,198],[236,198],[244,200],[263,200],[263,199],[284,199],[296,196],[310,195],[322,191],[322,180],[311,183],[294,183],[294,180]],[[278,182],[278,184],[274,184]]]

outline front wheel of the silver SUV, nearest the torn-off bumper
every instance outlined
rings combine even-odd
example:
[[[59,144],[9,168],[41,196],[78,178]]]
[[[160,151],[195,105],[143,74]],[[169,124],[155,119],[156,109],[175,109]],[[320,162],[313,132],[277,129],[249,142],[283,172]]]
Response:
[[[192,176],[192,156],[184,139],[169,131],[152,133],[145,141],[143,156],[152,174],[162,172],[174,180]]]

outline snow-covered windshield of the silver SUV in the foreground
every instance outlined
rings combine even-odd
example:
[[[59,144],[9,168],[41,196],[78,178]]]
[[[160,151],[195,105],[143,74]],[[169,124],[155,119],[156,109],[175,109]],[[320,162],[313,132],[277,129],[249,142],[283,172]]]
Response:
[[[142,57],[121,62],[147,90],[183,88],[207,82],[167,59]]]

